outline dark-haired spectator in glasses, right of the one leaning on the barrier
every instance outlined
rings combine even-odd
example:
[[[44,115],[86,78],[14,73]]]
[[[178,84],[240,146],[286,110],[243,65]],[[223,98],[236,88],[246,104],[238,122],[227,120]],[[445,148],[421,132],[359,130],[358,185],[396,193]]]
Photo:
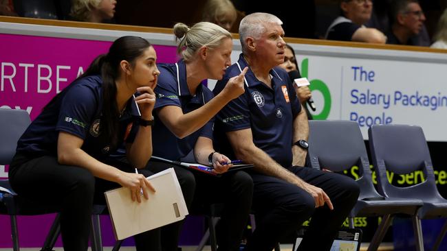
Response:
[[[395,0],[391,5],[391,32],[387,44],[418,45],[417,35],[424,28],[425,15],[417,0]]]

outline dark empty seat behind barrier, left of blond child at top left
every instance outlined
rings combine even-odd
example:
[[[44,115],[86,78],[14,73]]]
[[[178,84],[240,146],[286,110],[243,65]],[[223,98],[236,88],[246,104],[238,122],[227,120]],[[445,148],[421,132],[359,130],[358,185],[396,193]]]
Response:
[[[14,0],[19,16],[36,19],[58,19],[54,0]]]

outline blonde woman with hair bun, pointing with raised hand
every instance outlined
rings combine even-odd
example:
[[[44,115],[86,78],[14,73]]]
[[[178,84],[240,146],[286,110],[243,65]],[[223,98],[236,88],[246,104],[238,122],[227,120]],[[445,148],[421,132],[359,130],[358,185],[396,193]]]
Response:
[[[180,43],[177,52],[182,59],[175,64],[159,64],[161,72],[155,93],[153,156],[212,166],[215,177],[192,172],[180,165],[151,158],[153,172],[174,167],[188,209],[191,204],[223,203],[217,228],[218,250],[239,250],[243,230],[252,202],[253,182],[245,171],[231,171],[230,159],[216,152],[212,145],[214,117],[230,100],[243,93],[243,76],[247,69],[228,81],[227,88],[214,96],[202,82],[220,80],[230,66],[232,36],[219,25],[199,22],[193,27],[183,23],[174,26]],[[191,154],[191,156],[189,156]],[[194,203],[193,203],[194,200]],[[182,222],[164,226],[161,246],[164,251],[177,251]]]

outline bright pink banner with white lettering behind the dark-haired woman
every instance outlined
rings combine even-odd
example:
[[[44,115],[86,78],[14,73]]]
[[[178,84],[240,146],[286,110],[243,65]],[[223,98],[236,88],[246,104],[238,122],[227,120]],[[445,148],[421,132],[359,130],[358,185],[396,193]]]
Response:
[[[96,56],[107,53],[110,45],[98,40],[0,34],[0,108],[28,110],[34,119]],[[177,60],[175,47],[154,47],[157,62]],[[5,177],[1,168],[0,172]],[[41,246],[53,219],[54,215],[19,217],[20,246]],[[111,226],[107,220],[103,224],[108,225],[104,231],[110,232],[105,246],[113,246]],[[11,248],[8,216],[0,216],[0,226],[0,248]]]

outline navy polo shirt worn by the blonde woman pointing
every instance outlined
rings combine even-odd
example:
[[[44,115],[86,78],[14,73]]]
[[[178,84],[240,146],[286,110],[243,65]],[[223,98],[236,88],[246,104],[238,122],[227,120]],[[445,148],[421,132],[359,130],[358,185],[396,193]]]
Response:
[[[200,108],[214,97],[212,91],[203,84],[197,86],[194,96],[189,93],[184,60],[179,60],[177,64],[157,64],[157,67],[160,70],[160,77],[157,87],[155,87],[157,94],[155,110],[164,106],[178,106],[186,114]],[[156,114],[157,112],[155,112]],[[178,139],[160,119],[156,120],[157,122],[152,128],[153,156],[179,160],[194,149],[199,136],[212,139],[214,119],[183,139]]]

